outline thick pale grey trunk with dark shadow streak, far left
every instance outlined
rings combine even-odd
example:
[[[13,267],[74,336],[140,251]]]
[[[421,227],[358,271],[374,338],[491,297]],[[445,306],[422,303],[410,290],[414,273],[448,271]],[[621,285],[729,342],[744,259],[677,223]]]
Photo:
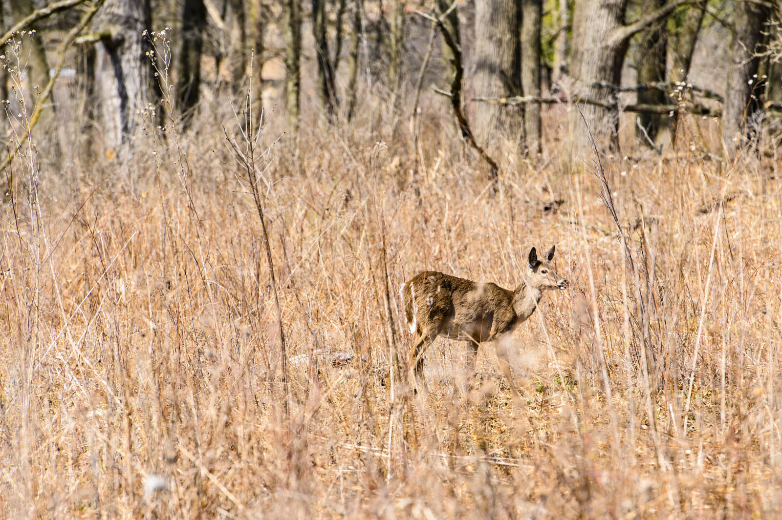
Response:
[[[149,30],[149,0],[109,0],[95,16],[95,27],[111,34],[95,51],[101,135],[106,148],[120,151],[142,120],[151,117],[145,113],[149,105],[156,109],[154,126],[162,116],[160,87],[147,55],[151,45],[144,34]]]

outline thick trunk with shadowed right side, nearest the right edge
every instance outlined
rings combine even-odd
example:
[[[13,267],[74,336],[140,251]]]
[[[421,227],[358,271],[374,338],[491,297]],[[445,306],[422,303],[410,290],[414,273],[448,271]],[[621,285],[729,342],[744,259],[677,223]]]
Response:
[[[762,43],[762,29],[769,20],[769,8],[754,2],[737,2],[734,16],[733,59],[728,69],[723,109],[722,137],[725,155],[733,158],[752,132],[752,116],[761,108],[762,94],[756,76],[759,57],[755,51]]]

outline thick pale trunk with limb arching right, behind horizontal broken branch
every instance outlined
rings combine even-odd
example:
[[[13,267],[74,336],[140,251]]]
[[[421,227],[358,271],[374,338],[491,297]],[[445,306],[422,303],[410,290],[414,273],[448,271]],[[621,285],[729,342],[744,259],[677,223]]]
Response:
[[[596,83],[619,84],[627,39],[615,38],[624,26],[627,0],[576,0],[573,10],[573,41],[570,70],[579,98],[606,100],[612,91]],[[619,149],[619,114],[596,105],[581,107],[598,149]],[[577,110],[572,110],[573,151],[590,151],[587,129]]]

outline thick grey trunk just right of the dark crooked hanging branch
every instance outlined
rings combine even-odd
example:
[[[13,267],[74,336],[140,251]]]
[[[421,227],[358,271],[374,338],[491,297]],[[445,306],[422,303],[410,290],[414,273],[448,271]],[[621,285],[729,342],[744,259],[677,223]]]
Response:
[[[475,2],[475,95],[507,98],[522,94],[521,50],[518,45],[518,0],[478,0]],[[477,103],[472,130],[482,148],[499,144],[497,137],[513,143],[521,141],[523,111],[520,106]]]

